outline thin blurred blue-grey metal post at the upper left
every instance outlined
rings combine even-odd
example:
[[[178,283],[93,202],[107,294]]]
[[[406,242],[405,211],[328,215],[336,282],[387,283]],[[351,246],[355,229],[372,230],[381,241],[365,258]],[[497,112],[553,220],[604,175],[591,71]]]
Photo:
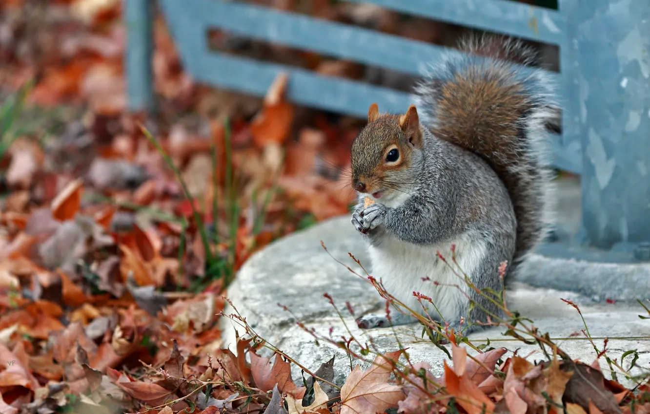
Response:
[[[125,75],[129,110],[153,110],[153,11],[151,0],[124,0],[127,27]]]

